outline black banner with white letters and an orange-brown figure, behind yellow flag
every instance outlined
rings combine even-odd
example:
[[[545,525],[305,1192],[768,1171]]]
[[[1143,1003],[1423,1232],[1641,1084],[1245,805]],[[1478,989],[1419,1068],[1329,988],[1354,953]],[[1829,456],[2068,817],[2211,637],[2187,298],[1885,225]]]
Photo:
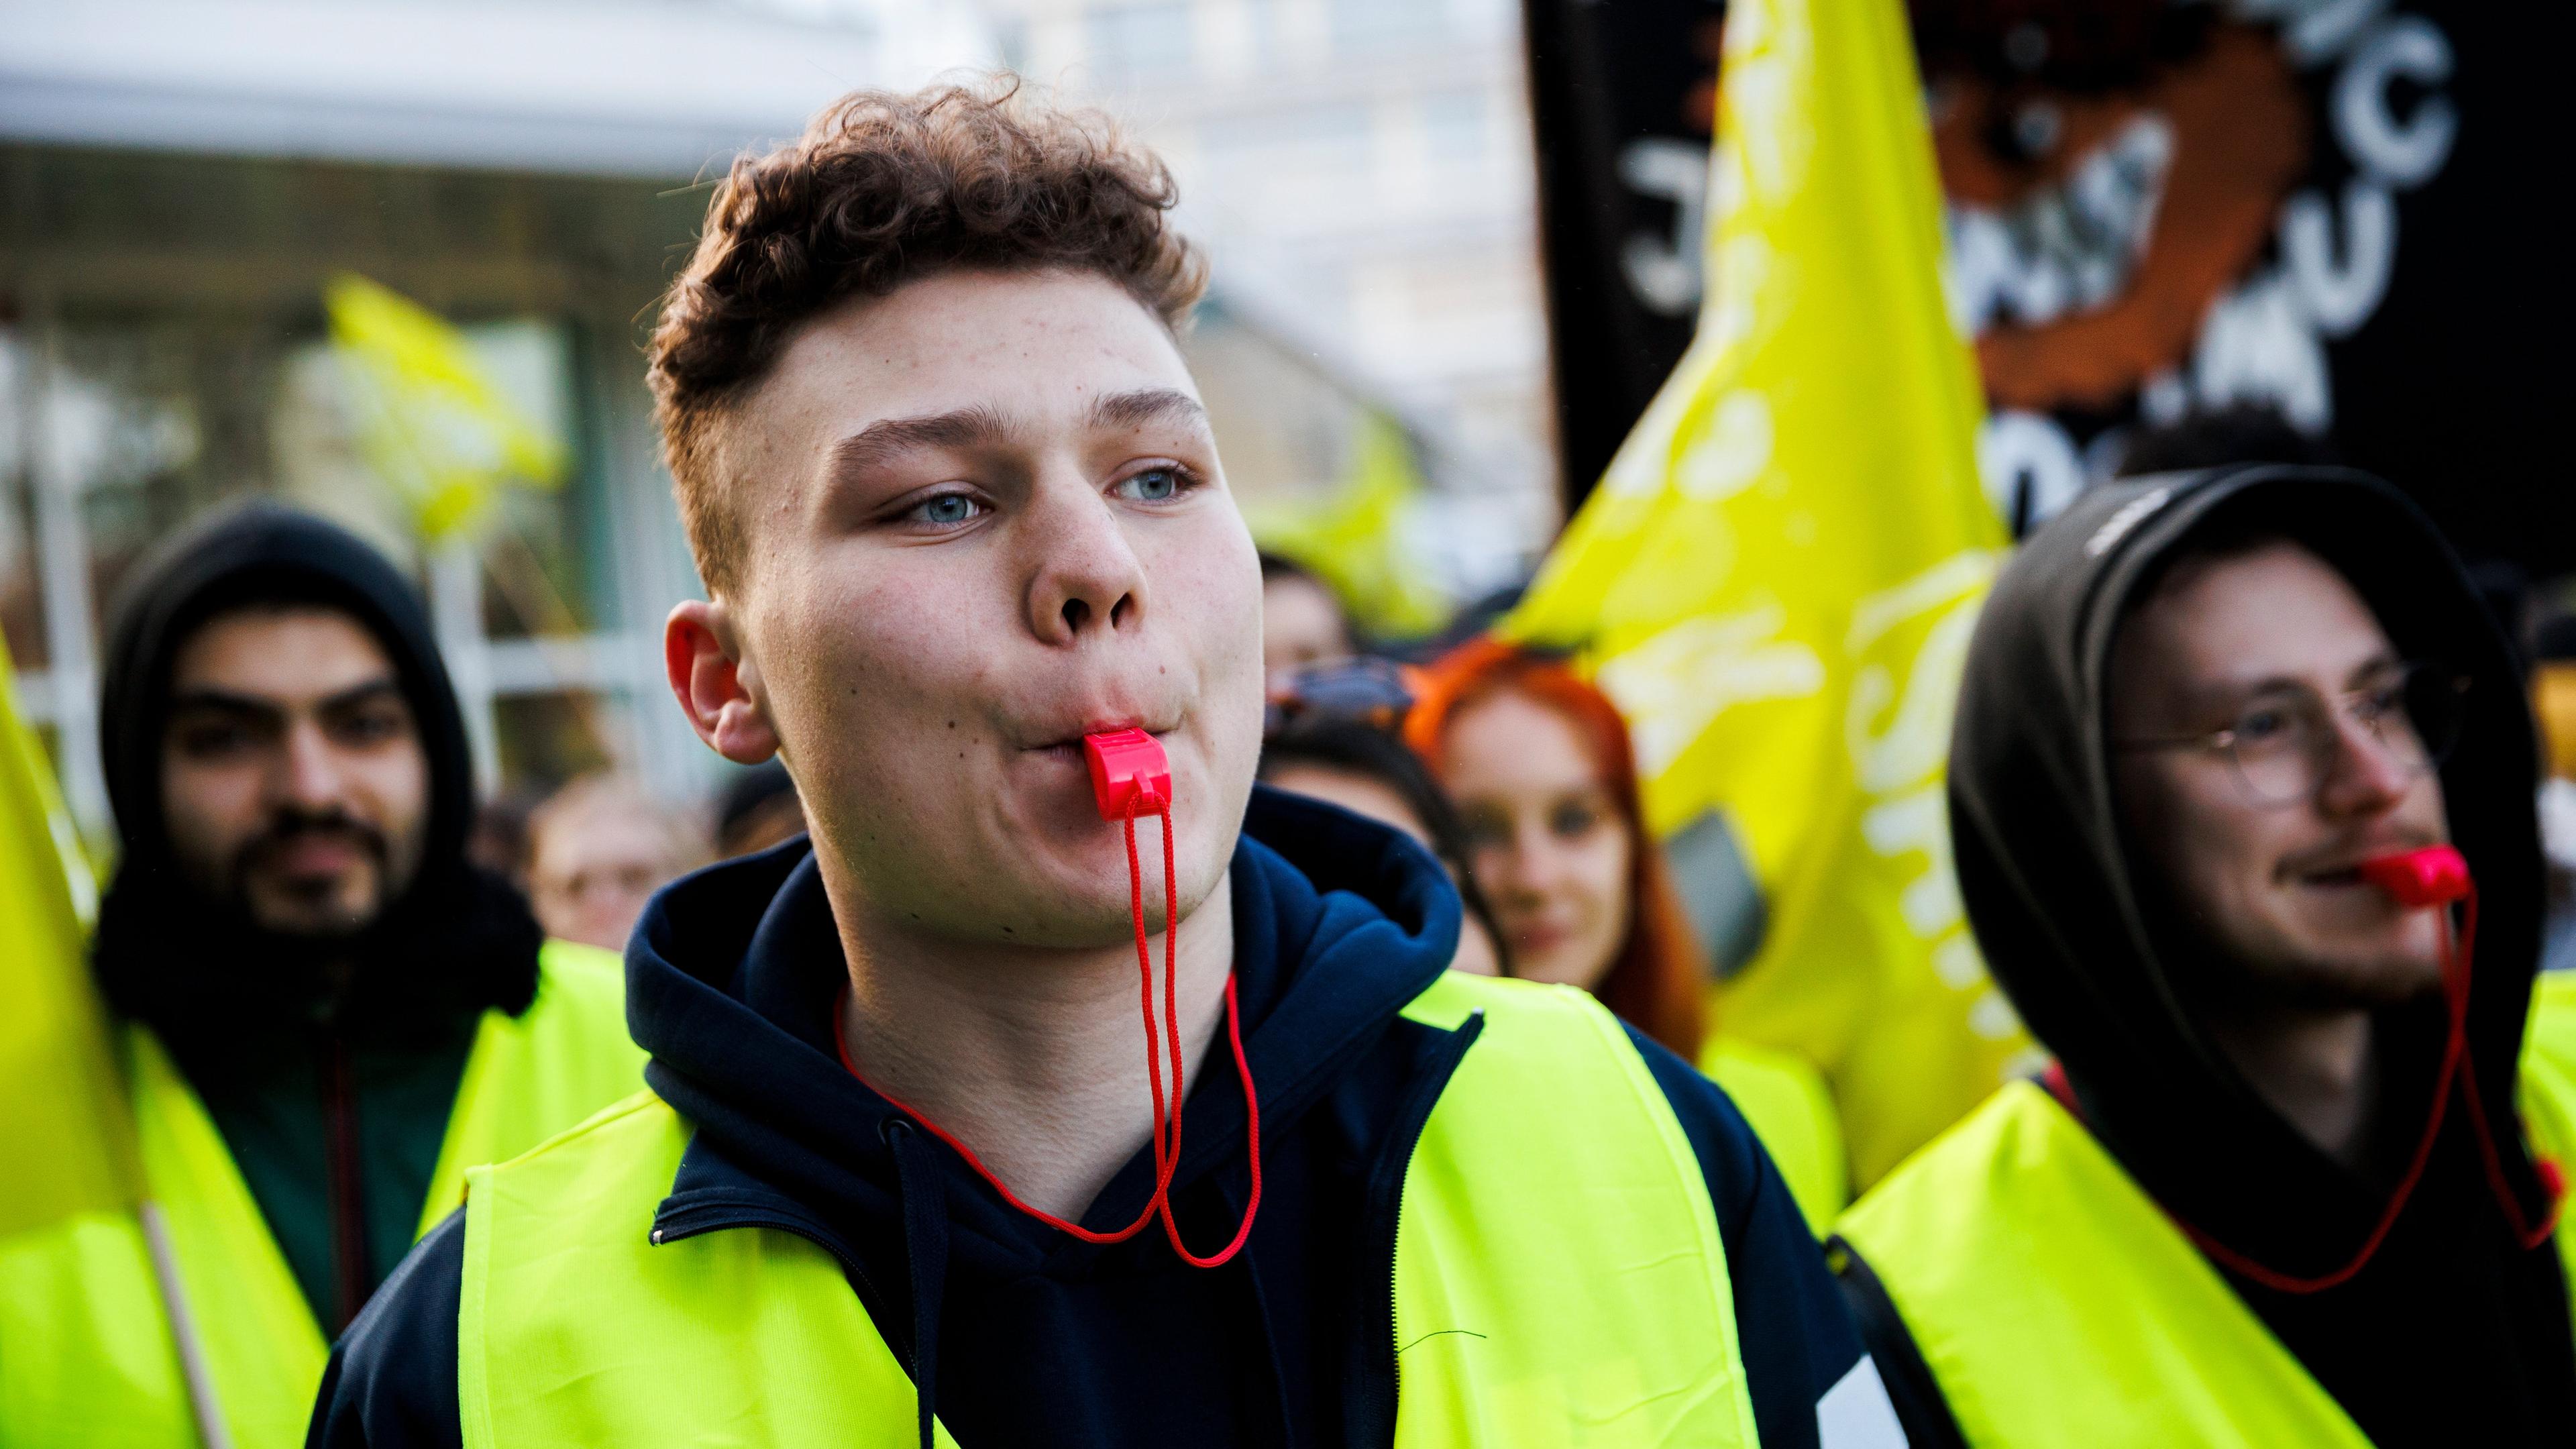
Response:
[[[1548,80],[1540,10],[1589,21],[1597,75],[1613,77],[1615,57],[1677,70],[1700,31],[1669,13],[1680,5],[1530,0],[1543,173],[1605,186],[1625,175],[1618,142],[1587,144],[1548,108],[1587,88]],[[1953,304],[1991,407],[1981,464],[2007,516],[2048,516],[2141,428],[2262,410],[2414,492],[2463,552],[2576,567],[2571,469],[2553,446],[2576,384],[2576,307],[2566,224],[2545,219],[2568,170],[2566,8],[1914,0],[1911,13]],[[1540,199],[1566,376],[1587,361],[1569,340],[1600,351],[1613,335],[1584,315],[1605,268],[1556,242],[1587,232],[1564,214],[1577,188],[1546,180]],[[1631,188],[1623,204],[1592,201],[1587,235],[1654,224],[1649,199]],[[1620,302],[1646,309],[1633,286]],[[1669,369],[1680,345],[1654,343]],[[1646,351],[1623,361],[1643,371]],[[1651,397],[1613,394],[1602,376],[1558,400],[1569,498],[1607,456],[1574,441],[1615,446]]]

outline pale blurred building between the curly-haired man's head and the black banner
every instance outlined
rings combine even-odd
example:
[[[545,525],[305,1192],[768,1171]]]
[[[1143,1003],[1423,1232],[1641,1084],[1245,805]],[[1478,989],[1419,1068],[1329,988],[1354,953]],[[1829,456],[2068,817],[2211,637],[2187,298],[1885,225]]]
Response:
[[[1329,490],[1355,428],[1280,436],[1249,330],[1383,405],[1430,490],[1412,554],[1453,596],[1556,529],[1520,10],[1512,0],[987,0],[1005,59],[1162,152],[1216,260],[1193,351],[1255,503]],[[1236,420],[1239,418],[1239,420]],[[1255,511],[1260,516],[1260,511]]]

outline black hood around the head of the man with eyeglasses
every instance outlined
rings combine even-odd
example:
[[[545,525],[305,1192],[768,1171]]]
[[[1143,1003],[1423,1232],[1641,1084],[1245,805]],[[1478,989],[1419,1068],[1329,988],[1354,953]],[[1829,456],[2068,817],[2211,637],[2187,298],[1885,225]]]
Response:
[[[2123,480],[2032,534],[1968,650],[1950,737],[1953,848],[1978,949],[2094,1132],[2169,1209],[2290,1271],[2321,1271],[2352,1253],[2380,1199],[2344,1191],[2339,1168],[2200,1031],[2177,972],[2192,933],[2136,866],[2112,797],[2105,696],[2117,629],[2213,529],[2308,547],[2403,657],[2439,657],[2473,681],[2442,792],[2481,895],[2468,1021],[2478,1085],[2486,1101],[2514,1101],[2545,910],[2530,706],[2450,547],[2375,477],[2262,464]],[[2519,1145],[2506,1145],[2512,1176],[2537,1212],[2545,1194]]]

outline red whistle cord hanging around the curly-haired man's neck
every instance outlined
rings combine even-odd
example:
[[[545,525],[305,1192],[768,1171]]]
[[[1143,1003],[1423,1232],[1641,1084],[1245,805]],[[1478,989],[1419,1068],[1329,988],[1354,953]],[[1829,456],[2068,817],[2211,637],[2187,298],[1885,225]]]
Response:
[[[1144,931],[1144,859],[1136,853],[1136,815],[1144,807],[1149,807],[1149,804],[1159,807],[1157,815],[1162,815],[1162,900],[1164,900],[1164,923],[1162,923],[1162,1029],[1159,1031],[1154,1026],[1154,951],[1146,944],[1146,931]],[[907,1106],[902,1098],[896,1098],[886,1088],[871,1083],[868,1075],[858,1070],[858,1062],[850,1057],[850,1039],[848,1039],[848,1029],[845,1029],[845,1016],[840,1011],[832,1013],[832,1044],[840,1049],[840,1065],[853,1078],[858,1078],[860,1083],[866,1083],[868,1091],[873,1091],[876,1096],[886,1098],[889,1106],[894,1106],[896,1111],[902,1111],[912,1122],[920,1122],[922,1132],[930,1132],[940,1142],[948,1142],[948,1147],[953,1147],[958,1158],[966,1158],[966,1165],[974,1168],[979,1178],[984,1178],[987,1183],[992,1183],[992,1191],[1002,1194],[1002,1201],[1007,1201],[1010,1207],[1015,1207],[1015,1209],[1036,1217],[1038,1222],[1043,1222],[1043,1225],[1048,1225],[1048,1227],[1054,1227],[1059,1232],[1072,1232],[1074,1238],[1079,1238],[1084,1243],[1126,1243],[1128,1238],[1144,1232],[1146,1222],[1154,1222],[1154,1217],[1162,1217],[1162,1232],[1172,1243],[1172,1250],[1180,1253],[1182,1261],[1188,1261],[1188,1263],[1193,1263],[1198,1269],[1216,1269],[1216,1266],[1231,1261],[1234,1253],[1239,1253],[1244,1248],[1244,1243],[1252,1238],[1252,1217],[1262,1209],[1262,1109],[1260,1109],[1260,1098],[1252,1093],[1252,1065],[1244,1060],[1242,1013],[1234,1006],[1234,972],[1226,972],[1226,1042],[1234,1047],[1234,1075],[1244,1083],[1244,1124],[1247,1124],[1247,1145],[1249,1145],[1249,1152],[1252,1152],[1252,1196],[1244,1201],[1244,1220],[1234,1230],[1234,1240],[1226,1243],[1226,1248],[1218,1250],[1216,1256],[1200,1258],[1200,1256],[1190,1253],[1188,1245],[1182,1245],[1182,1240],[1180,1240],[1180,1225],[1172,1222],[1172,1173],[1180,1168],[1180,1119],[1182,1119],[1180,1093],[1182,1093],[1182,1083],[1188,1080],[1188,1075],[1182,1073],[1182,1062],[1180,1062],[1180,987],[1175,985],[1177,982],[1177,972],[1172,969],[1172,964],[1177,959],[1175,957],[1175,941],[1180,936],[1180,920],[1175,918],[1175,910],[1172,910],[1172,902],[1180,900],[1177,869],[1172,864],[1172,810],[1164,807],[1159,799],[1149,797],[1146,792],[1131,794],[1128,797],[1128,807],[1126,807],[1126,848],[1128,848],[1128,920],[1136,926],[1139,1006],[1144,1008],[1144,1067],[1146,1067],[1144,1075],[1146,1075],[1146,1085],[1154,1093],[1154,1194],[1146,1196],[1144,1212],[1136,1214],[1136,1222],[1128,1222],[1126,1227],[1121,1227],[1115,1232],[1095,1232],[1090,1227],[1082,1227],[1079,1222],[1066,1222],[1066,1220],[1056,1217],[1054,1212],[1046,1212],[1046,1209],[1038,1209],[1038,1207],[1030,1207],[1030,1204],[1020,1201],[1020,1194],[1010,1191],[1010,1183],[1005,1183],[1002,1178],[997,1178],[994,1171],[984,1165],[984,1158],[974,1155],[974,1147],[969,1147],[966,1142],[961,1142],[956,1134],[951,1134],[938,1122],[930,1122],[927,1116],[922,1116],[917,1109]],[[1157,1036],[1159,1036],[1159,1042],[1157,1042]],[[1170,1088],[1170,1093],[1164,1091],[1164,1078],[1162,1078],[1162,1062],[1164,1062],[1164,1049],[1162,1047],[1164,1044],[1170,1047],[1170,1062],[1172,1062],[1172,1088]]]

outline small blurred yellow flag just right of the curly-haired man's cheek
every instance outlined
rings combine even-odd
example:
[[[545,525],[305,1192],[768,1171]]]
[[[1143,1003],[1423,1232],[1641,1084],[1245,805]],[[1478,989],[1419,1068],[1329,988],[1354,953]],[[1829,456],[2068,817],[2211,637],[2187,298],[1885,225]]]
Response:
[[[1430,634],[1450,601],[1406,544],[1422,505],[1422,467],[1404,428],[1383,413],[1360,418],[1350,472],[1321,505],[1252,511],[1262,549],[1296,559],[1332,585],[1373,634]]]

